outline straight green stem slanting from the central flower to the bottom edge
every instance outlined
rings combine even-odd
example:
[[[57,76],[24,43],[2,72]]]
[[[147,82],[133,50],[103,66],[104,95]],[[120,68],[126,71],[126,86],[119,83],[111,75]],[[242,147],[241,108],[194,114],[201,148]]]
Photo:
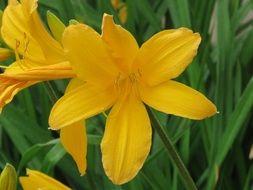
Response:
[[[150,108],[147,108],[149,117],[151,119],[151,123],[153,128],[157,131],[158,135],[160,136],[163,144],[165,145],[166,149],[169,152],[170,158],[176,164],[179,174],[185,184],[185,188],[188,190],[197,190],[197,187],[189,174],[187,168],[185,167],[182,159],[180,158],[179,154],[177,153],[176,148],[174,147],[173,143],[171,142],[170,138],[167,136],[164,129],[159,124],[156,116],[153,114]]]

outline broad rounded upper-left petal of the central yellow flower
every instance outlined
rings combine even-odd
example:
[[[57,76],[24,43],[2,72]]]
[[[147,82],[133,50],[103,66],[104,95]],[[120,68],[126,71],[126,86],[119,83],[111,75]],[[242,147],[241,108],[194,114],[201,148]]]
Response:
[[[83,24],[70,25],[63,34],[63,45],[77,77],[98,86],[114,83],[119,71],[95,30]]]

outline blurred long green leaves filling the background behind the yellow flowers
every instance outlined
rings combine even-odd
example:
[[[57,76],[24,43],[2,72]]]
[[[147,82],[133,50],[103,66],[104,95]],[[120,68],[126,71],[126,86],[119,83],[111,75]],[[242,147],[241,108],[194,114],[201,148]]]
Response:
[[[100,32],[103,13],[113,14],[140,45],[163,29],[188,27],[199,32],[202,43],[198,55],[178,80],[203,92],[217,105],[219,114],[204,121],[155,114],[199,189],[253,189],[252,0],[38,2],[45,25],[50,10],[65,25],[76,19]],[[0,1],[2,10],[6,5],[7,0]],[[9,63],[2,61],[1,65]],[[67,82],[50,82],[58,97]],[[87,122],[88,171],[80,177],[74,161],[59,143],[58,133],[48,130],[52,105],[45,84],[38,84],[23,90],[6,106],[0,115],[1,169],[6,163],[15,166],[17,175],[25,175],[25,168],[37,169],[78,190],[184,189],[155,131],[150,155],[139,174],[125,185],[113,185],[101,163],[103,115]]]

